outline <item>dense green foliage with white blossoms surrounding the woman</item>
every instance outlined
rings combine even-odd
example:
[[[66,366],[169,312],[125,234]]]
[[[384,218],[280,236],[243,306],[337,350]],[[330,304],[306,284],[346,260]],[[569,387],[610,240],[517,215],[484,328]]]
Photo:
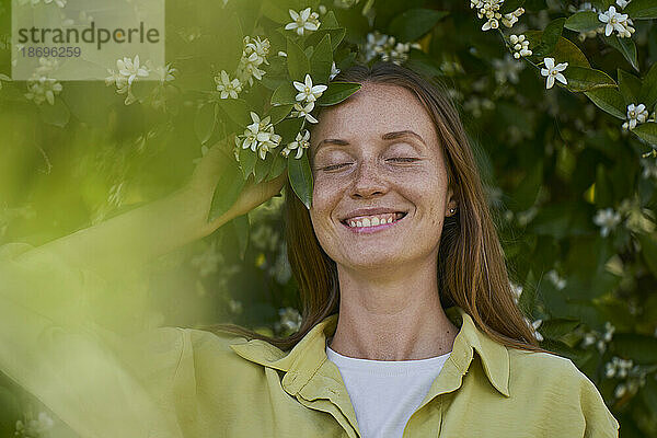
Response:
[[[443,81],[461,112],[543,347],[597,383],[623,437],[657,436],[656,18],[654,0],[178,0],[166,66],[125,58],[106,83],[14,82],[2,0],[0,243],[41,244],[163,196],[227,137],[235,161],[215,215],[246,177],[286,165],[285,196],[310,205],[313,108],[358,89],[328,79],[356,60],[404,64]],[[159,80],[128,83],[122,71],[140,68]],[[162,257],[155,323],[295,332],[281,201]],[[0,383],[2,434],[57,430]]]

